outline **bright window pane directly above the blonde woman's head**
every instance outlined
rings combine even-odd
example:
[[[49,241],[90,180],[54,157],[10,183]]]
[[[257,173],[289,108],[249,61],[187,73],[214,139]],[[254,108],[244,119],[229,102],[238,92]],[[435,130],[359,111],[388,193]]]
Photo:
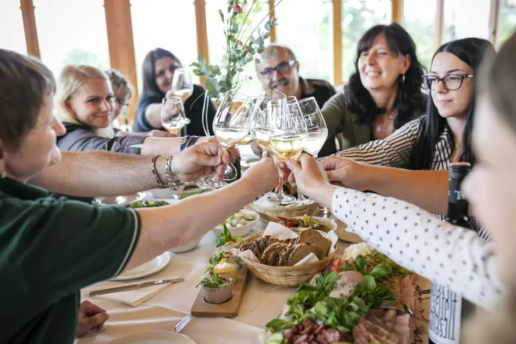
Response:
[[[109,68],[103,0],[34,0],[41,59],[56,77],[68,64]]]

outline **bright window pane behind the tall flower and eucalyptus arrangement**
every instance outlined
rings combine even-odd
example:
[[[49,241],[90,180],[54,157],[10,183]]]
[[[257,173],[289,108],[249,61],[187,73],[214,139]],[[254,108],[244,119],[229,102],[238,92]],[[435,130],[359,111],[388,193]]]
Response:
[[[249,2],[250,4],[251,2]],[[250,5],[247,8],[250,8]],[[222,61],[227,58],[225,51],[226,42],[224,39],[224,24],[220,19],[218,10],[222,10],[224,19],[228,16],[228,2],[227,0],[206,0],[206,30],[208,33],[208,54],[209,63],[220,65]],[[251,32],[256,28],[260,22],[261,30],[264,30],[265,22],[269,20],[269,2],[258,1],[251,9],[247,23],[244,24],[246,29],[242,33],[241,37],[247,39],[250,37]],[[264,20],[265,18],[265,20]],[[262,21],[263,20],[263,21]],[[256,36],[254,32],[254,36]],[[270,42],[270,39],[266,40],[266,45]],[[248,62],[244,66],[244,71],[240,73],[240,79],[247,78],[241,83],[239,92],[245,94],[257,94],[262,90],[260,82],[256,79],[256,70],[254,61]]]

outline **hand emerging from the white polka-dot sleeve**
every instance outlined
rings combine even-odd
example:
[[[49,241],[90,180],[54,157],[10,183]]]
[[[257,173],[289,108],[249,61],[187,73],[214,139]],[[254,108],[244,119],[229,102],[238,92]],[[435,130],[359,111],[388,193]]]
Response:
[[[288,160],[287,166],[292,174],[289,182],[296,182],[298,190],[319,203],[331,205],[331,197],[335,187],[330,185],[320,163],[309,154],[302,153],[299,162]]]

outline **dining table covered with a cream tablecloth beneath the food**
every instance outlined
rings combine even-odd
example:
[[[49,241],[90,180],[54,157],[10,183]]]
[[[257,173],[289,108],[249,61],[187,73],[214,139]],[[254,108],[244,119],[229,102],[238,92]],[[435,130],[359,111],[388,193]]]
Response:
[[[173,198],[160,200],[170,204],[179,202]],[[336,220],[333,215],[330,218]],[[264,231],[267,225],[267,221],[260,219],[244,238]],[[187,231],[188,228],[184,230]],[[89,300],[106,309],[109,319],[100,331],[91,331],[77,339],[76,344],[109,343],[111,340],[144,331],[173,331],[174,326],[190,314],[192,304],[199,294],[200,288],[196,286],[205,275],[209,258],[217,251],[215,247],[217,236],[213,230],[208,230],[194,249],[183,253],[169,252],[169,264],[146,279],[162,280],[181,277],[184,281],[169,284],[158,294],[137,306],[88,295],[88,290],[106,285],[112,286],[113,281],[99,282],[82,289],[82,301]],[[351,243],[339,240],[337,256],[341,255],[349,245]],[[243,301],[236,317],[231,319],[193,317],[181,334],[188,336],[196,344],[261,344],[263,342],[261,338],[265,334],[265,324],[281,314],[288,297],[296,293],[296,288],[270,286],[255,277],[251,271],[248,273]],[[138,280],[121,282],[138,283]],[[429,288],[427,280],[418,277],[417,282],[422,289]],[[427,303],[423,308],[426,310],[424,315],[428,317]],[[427,339],[424,338],[423,343],[426,342]]]

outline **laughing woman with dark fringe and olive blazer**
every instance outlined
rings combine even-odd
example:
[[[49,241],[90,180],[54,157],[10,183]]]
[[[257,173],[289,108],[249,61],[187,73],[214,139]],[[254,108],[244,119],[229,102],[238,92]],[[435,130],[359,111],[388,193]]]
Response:
[[[385,139],[425,111],[423,66],[400,25],[367,30],[358,43],[355,66],[344,92],[321,109],[329,135],[342,131],[341,149]]]

